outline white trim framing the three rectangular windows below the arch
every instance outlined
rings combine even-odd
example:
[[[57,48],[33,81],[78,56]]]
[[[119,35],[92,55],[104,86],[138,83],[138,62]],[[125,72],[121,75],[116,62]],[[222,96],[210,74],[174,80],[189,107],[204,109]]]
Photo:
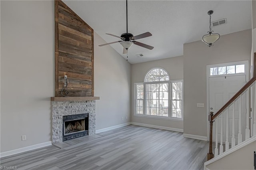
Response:
[[[157,67],[159,68],[159,67]],[[150,69],[152,70],[152,69]],[[170,79],[170,77],[169,77]],[[175,82],[182,82],[182,118],[172,117],[172,89],[171,85]],[[146,84],[154,84],[154,83],[168,83],[168,117],[156,116],[156,115],[146,115]],[[136,85],[143,84],[143,114],[136,113]],[[152,81],[152,82],[136,82],[134,83],[134,116],[136,117],[149,117],[156,119],[165,119],[165,120],[173,120],[173,121],[183,121],[184,119],[184,83],[183,79],[177,80],[168,80],[168,81]]]

